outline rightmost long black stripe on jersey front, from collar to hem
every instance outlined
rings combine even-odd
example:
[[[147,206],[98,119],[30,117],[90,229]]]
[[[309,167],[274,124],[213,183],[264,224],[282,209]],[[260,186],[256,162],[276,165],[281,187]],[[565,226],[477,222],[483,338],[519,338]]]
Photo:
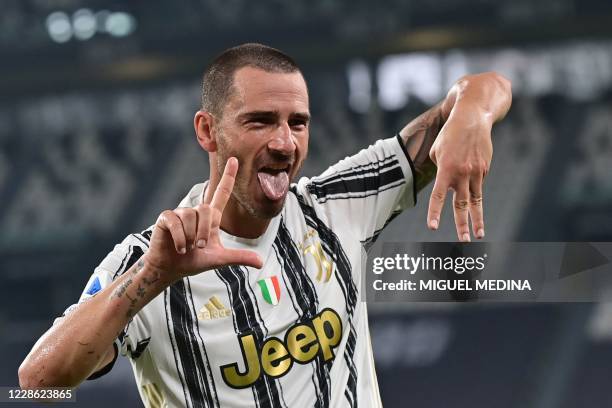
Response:
[[[304,213],[306,224],[317,231],[321,239],[323,250],[327,252],[336,264],[334,275],[344,294],[349,323],[349,335],[344,352],[344,360],[349,369],[345,396],[350,406],[355,408],[357,407],[357,368],[355,367],[354,357],[357,334],[355,332],[355,326],[353,326],[353,313],[355,312],[355,305],[357,304],[357,287],[353,281],[351,263],[340,244],[338,236],[319,219],[314,208],[309,206],[304,200],[304,197],[298,194],[295,185],[291,187],[291,192],[297,197],[300,208]]]

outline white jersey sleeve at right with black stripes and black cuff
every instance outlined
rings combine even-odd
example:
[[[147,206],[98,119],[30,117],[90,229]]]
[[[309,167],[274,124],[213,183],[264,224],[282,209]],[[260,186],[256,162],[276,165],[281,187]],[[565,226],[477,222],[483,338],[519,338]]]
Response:
[[[330,226],[350,228],[365,244],[416,204],[414,165],[399,134],[340,160],[319,176],[302,178],[298,190],[325,213]]]

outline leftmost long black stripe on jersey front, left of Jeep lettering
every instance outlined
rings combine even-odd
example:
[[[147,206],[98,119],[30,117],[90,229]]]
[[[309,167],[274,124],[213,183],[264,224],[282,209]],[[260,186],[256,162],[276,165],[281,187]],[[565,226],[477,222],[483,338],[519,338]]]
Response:
[[[202,353],[193,330],[194,319],[187,302],[185,279],[179,280],[170,287],[170,314],[187,385],[185,402],[193,408],[218,406],[208,383]]]

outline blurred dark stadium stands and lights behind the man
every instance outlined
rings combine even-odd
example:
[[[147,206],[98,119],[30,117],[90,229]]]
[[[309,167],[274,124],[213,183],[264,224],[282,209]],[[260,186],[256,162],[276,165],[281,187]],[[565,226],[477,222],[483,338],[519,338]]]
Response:
[[[102,257],[207,178],[199,77],[258,41],[303,66],[313,175],[497,70],[491,241],[612,240],[608,0],[0,1],[0,385]],[[425,227],[429,191],[380,240]],[[371,305],[386,407],[612,406],[612,306]],[[78,406],[139,406],[126,359]],[[70,406],[75,406],[71,404]]]

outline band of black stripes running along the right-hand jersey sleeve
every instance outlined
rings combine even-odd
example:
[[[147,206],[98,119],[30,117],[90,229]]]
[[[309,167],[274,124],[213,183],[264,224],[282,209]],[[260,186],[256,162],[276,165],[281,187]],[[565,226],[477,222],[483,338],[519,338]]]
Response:
[[[317,197],[318,202],[329,199],[346,199],[366,197],[376,194],[392,187],[397,187],[406,182],[404,172],[397,159],[389,162],[392,167],[364,177],[347,179],[344,176],[337,181],[320,184],[311,180],[308,184],[308,192]]]

